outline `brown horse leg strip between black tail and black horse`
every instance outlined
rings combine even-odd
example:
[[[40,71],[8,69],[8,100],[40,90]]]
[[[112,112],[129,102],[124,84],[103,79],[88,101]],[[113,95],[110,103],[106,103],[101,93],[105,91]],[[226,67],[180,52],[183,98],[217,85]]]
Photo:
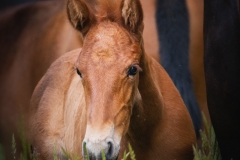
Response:
[[[200,107],[209,123],[206,82],[203,68],[203,2],[204,0],[186,0],[190,20],[189,62],[193,88]]]

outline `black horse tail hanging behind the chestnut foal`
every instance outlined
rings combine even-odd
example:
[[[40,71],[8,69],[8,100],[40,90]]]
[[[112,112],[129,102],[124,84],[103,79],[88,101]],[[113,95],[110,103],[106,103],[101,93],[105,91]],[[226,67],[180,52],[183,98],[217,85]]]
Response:
[[[202,121],[189,65],[190,22],[186,1],[157,0],[156,6],[161,64],[180,91],[199,136]]]

